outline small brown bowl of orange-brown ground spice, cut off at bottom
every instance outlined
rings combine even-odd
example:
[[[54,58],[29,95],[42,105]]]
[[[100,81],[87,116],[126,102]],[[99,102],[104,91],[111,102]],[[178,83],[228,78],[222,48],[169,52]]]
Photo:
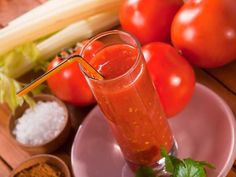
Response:
[[[35,155],[21,163],[10,177],[70,177],[70,171],[63,160],[49,155]]]

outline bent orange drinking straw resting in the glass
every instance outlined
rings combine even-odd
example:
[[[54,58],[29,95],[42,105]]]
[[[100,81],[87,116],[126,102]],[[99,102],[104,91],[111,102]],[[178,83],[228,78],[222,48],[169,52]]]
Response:
[[[103,76],[96,69],[94,69],[86,60],[84,60],[80,55],[72,55],[69,58],[67,58],[65,61],[61,62],[55,68],[47,71],[42,76],[35,79],[30,84],[26,85],[23,89],[21,89],[19,92],[17,92],[16,95],[23,96],[24,94],[28,93],[29,91],[31,91],[32,89],[37,87],[39,84],[41,84],[42,82],[47,80],[53,74],[59,72],[62,68],[68,66],[70,63],[75,62],[75,61],[80,63],[87,70],[87,72],[91,75],[91,77],[93,77],[94,79],[97,79],[97,80],[104,79]]]

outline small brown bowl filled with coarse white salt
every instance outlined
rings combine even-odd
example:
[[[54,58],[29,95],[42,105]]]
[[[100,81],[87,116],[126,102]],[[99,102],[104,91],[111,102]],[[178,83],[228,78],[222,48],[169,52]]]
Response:
[[[9,118],[9,134],[31,154],[51,153],[58,149],[70,133],[66,105],[53,95],[33,97],[35,105],[23,104]]]

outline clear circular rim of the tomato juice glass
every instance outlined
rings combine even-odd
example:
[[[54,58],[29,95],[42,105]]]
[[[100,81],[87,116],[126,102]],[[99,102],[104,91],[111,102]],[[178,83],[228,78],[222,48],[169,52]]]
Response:
[[[81,52],[80,52],[80,55],[81,57],[83,57],[83,53],[85,51],[85,49],[87,47],[90,46],[90,44],[92,44],[94,41],[102,38],[102,37],[105,37],[107,35],[113,35],[113,34],[123,34],[123,35],[126,35],[128,37],[130,37],[134,43],[137,45],[137,49],[138,49],[138,54],[136,56],[136,59],[135,59],[135,62],[134,64],[123,74],[117,76],[117,77],[114,77],[114,78],[111,78],[111,79],[103,79],[103,80],[98,80],[98,79],[95,79],[93,77],[91,77],[86,71],[85,69],[80,65],[80,69],[82,71],[82,73],[84,74],[84,76],[90,80],[93,80],[93,81],[96,81],[96,82],[112,82],[112,81],[115,81],[115,80],[119,80],[123,77],[125,77],[126,75],[129,75],[130,73],[132,73],[135,68],[138,66],[138,63],[139,61],[141,60],[141,55],[142,55],[142,51],[141,51],[141,45],[140,43],[138,42],[138,40],[136,39],[136,37],[132,34],[130,34],[129,32],[126,32],[126,31],[122,31],[122,30],[110,30],[110,31],[106,31],[106,32],[102,32],[102,33],[99,33],[97,35],[95,35],[94,37],[92,37],[91,39],[89,39],[88,41],[85,42],[85,44],[82,46],[81,48]]]

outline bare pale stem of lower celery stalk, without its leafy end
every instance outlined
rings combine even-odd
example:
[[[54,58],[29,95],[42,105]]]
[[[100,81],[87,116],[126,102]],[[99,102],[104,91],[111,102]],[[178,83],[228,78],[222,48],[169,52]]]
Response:
[[[37,45],[42,58],[54,56],[63,48],[111,29],[119,24],[118,12],[106,12],[74,23]]]

